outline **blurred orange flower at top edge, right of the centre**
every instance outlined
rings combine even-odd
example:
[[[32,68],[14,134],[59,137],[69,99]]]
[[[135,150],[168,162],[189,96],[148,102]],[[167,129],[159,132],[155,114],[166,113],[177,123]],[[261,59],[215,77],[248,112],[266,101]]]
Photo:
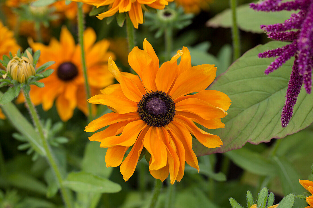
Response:
[[[175,0],[177,5],[184,7],[186,13],[198,14],[201,9],[208,9],[213,0]]]

